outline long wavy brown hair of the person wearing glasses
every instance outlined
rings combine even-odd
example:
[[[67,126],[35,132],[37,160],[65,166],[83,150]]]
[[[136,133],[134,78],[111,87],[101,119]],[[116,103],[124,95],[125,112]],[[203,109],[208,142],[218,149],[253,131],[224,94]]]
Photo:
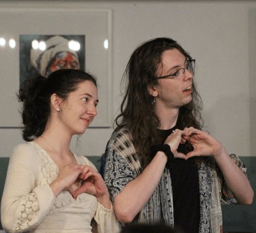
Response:
[[[157,38],[139,45],[131,55],[122,80],[127,78],[126,91],[121,104],[121,114],[115,119],[116,131],[122,127],[131,132],[137,153],[145,167],[151,161],[151,146],[159,142],[159,118],[154,112],[153,97],[148,87],[157,85],[157,70],[163,65],[162,54],[166,50],[178,49],[187,60],[192,57],[175,40]],[[200,110],[202,101],[194,81],[192,101],[180,108],[177,125],[180,129],[193,126],[201,129],[203,120]]]

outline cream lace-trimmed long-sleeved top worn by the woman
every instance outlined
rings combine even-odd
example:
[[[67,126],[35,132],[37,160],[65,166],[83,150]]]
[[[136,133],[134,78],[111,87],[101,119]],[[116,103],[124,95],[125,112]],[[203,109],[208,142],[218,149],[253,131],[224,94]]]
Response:
[[[95,166],[84,156],[79,164]],[[68,191],[55,198],[49,184],[58,175],[58,166],[35,142],[18,145],[9,162],[1,201],[1,222],[9,233],[91,233],[91,220],[99,233],[118,233],[119,224],[111,209],[95,196],[81,193],[73,199]]]

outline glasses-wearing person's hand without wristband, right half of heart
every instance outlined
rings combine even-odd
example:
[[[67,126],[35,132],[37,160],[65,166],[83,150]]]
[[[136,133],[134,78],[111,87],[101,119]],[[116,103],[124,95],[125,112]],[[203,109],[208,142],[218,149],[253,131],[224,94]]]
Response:
[[[223,150],[221,142],[207,132],[193,127],[185,128],[182,135],[193,146],[193,151],[186,154],[186,159],[193,156],[217,156]]]

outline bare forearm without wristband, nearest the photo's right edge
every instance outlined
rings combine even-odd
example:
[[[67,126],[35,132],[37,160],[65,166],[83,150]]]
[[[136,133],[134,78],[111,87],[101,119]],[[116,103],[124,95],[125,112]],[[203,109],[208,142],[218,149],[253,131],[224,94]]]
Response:
[[[244,172],[234,163],[224,148],[214,158],[237,202],[242,205],[250,205],[254,192]]]

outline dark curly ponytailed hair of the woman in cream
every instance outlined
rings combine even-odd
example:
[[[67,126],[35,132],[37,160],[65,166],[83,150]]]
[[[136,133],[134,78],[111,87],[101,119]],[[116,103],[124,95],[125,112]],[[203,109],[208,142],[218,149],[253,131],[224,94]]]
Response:
[[[79,83],[89,80],[97,87],[96,79],[83,70],[60,69],[48,78],[37,76],[25,81],[17,95],[23,102],[23,139],[27,142],[41,136],[51,114],[51,96],[56,93],[65,99],[76,91]]]

